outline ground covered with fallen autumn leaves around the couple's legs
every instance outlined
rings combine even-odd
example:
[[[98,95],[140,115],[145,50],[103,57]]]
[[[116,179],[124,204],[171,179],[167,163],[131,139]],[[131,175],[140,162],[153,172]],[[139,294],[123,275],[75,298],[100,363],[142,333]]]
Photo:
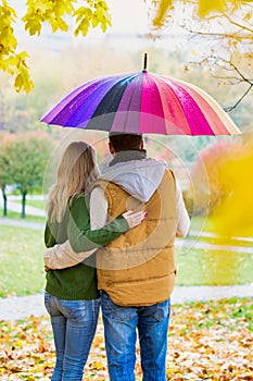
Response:
[[[48,317],[0,321],[2,381],[50,380],[53,364]],[[107,380],[101,321],[84,380]],[[139,357],[136,380],[141,380]],[[253,380],[253,298],[173,306],[167,380]]]

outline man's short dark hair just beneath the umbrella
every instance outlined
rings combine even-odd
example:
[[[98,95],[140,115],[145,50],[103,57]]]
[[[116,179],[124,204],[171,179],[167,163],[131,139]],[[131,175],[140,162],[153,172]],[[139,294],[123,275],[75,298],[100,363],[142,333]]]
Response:
[[[110,133],[109,140],[115,152],[140,149],[142,143],[141,134],[117,134]]]

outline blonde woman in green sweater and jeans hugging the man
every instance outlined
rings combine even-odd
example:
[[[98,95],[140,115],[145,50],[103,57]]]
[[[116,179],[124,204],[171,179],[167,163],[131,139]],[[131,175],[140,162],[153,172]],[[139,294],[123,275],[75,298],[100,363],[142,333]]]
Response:
[[[45,231],[47,247],[72,245],[78,239],[83,250],[104,246],[146,217],[140,211],[126,212],[103,229],[89,230],[89,188],[98,179],[96,153],[84,142],[72,143],[63,153],[56,183],[48,201],[48,221]],[[53,330],[56,365],[53,381],[81,380],[84,367],[97,328],[100,294],[96,269],[80,262],[63,270],[49,270],[45,304]]]

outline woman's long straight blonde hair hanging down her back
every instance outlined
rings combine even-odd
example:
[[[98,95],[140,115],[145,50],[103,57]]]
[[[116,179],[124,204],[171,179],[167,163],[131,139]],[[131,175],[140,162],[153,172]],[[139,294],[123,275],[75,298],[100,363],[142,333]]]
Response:
[[[99,176],[94,149],[85,142],[73,142],[66,148],[58,168],[56,183],[48,200],[48,219],[61,222],[68,201],[89,189]]]

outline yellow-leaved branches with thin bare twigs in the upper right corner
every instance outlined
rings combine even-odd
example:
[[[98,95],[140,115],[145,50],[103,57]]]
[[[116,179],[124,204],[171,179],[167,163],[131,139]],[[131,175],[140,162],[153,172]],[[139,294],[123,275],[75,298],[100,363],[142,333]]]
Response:
[[[156,35],[175,25],[181,27],[189,33],[191,41],[198,41],[194,62],[191,64],[208,65],[212,75],[224,81],[224,84],[244,84],[242,94],[226,111],[236,109],[253,87],[252,1],[150,0],[150,3],[153,7]],[[181,12],[178,15],[179,5]],[[201,42],[206,41],[215,46],[210,51],[202,49]]]

